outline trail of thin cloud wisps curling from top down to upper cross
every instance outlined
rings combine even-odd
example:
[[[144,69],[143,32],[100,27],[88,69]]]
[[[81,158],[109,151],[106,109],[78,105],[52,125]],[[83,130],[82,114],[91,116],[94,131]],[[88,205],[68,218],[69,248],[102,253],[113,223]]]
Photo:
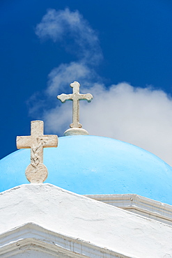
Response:
[[[68,93],[68,86],[75,79],[85,86],[90,86],[94,80],[100,80],[95,66],[102,60],[102,50],[97,33],[77,10],[47,10],[36,26],[36,35],[42,40],[51,39],[56,44],[63,43],[65,50],[73,52],[77,59],[54,68],[48,75],[47,89],[39,93],[39,98],[38,93],[35,93],[29,99],[29,114],[42,119],[47,114],[47,109],[51,112],[61,105],[56,96],[63,91]]]

